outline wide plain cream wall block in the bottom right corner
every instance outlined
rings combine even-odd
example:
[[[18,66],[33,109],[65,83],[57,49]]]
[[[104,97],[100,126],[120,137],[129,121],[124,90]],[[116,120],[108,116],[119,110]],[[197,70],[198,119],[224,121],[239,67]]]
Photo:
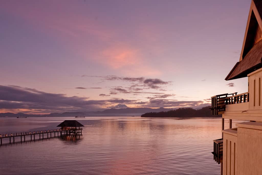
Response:
[[[252,126],[254,124],[255,126]],[[243,124],[237,124],[237,126],[236,169],[238,174],[262,174],[262,123],[251,122],[247,126]]]

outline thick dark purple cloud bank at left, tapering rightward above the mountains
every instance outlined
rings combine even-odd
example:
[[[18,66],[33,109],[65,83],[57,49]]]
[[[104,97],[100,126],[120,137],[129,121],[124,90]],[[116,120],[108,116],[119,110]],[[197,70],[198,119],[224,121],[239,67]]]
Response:
[[[2,110],[42,110],[42,112],[75,112],[103,109],[116,103],[132,104],[137,100],[109,99],[90,100],[87,97],[67,97],[20,86],[0,85],[0,109]]]

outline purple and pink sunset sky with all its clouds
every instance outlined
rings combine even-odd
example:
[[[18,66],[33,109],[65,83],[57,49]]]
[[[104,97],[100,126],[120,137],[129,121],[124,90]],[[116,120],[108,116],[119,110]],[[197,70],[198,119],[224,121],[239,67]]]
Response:
[[[0,1],[0,112],[201,108],[248,91],[250,0]]]

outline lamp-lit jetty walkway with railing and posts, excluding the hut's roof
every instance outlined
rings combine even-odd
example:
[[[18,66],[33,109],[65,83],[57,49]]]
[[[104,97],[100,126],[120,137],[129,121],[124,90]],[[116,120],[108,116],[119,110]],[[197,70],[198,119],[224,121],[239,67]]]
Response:
[[[41,131],[27,131],[27,132],[15,132],[15,133],[8,133],[8,134],[0,134],[0,140],[1,140],[1,145],[2,145],[2,139],[4,138],[9,138],[9,143],[11,144],[11,138],[13,138],[13,143],[15,142],[15,137],[21,137],[21,142],[22,142],[22,137],[24,137],[24,142],[25,142],[25,136],[31,136],[31,141],[32,137],[34,137],[35,140],[35,135],[39,135],[39,139],[44,139],[44,134],[47,135],[47,138],[50,134],[50,138],[52,137],[52,133],[54,133],[54,137],[62,136],[64,135],[70,135],[70,134],[81,134],[82,135],[82,130],[83,128],[67,128],[67,129],[52,129],[52,130],[41,130]]]

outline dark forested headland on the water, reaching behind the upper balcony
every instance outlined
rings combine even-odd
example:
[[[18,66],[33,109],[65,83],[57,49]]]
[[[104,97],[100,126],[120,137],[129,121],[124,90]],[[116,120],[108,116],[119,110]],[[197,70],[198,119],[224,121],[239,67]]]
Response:
[[[163,112],[149,112],[149,113],[142,114],[141,117],[157,117],[157,118],[214,117],[211,115],[211,111],[209,108],[211,108],[211,106],[207,106],[201,109],[179,108],[179,109],[163,111]],[[217,115],[215,117],[221,117],[221,115]]]

